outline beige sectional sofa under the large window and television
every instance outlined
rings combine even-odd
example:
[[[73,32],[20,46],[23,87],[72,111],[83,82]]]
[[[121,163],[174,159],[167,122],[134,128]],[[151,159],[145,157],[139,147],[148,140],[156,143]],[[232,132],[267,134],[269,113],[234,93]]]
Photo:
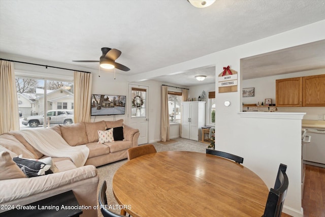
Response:
[[[98,143],[98,130],[122,126],[123,141]],[[86,144],[89,148],[89,156],[85,166],[77,168],[70,158],[52,157],[57,169],[53,174],[32,178],[11,176],[14,172],[8,166],[8,161],[13,157],[22,154],[23,158],[44,159],[47,156],[32,147],[18,132],[0,135],[0,153],[10,154],[10,156],[7,154],[7,157],[9,156],[7,162],[3,154],[0,159],[0,205],[3,207],[0,213],[8,210],[10,206],[26,205],[69,190],[73,190],[80,205],[96,206],[99,177],[95,167],[126,159],[127,149],[138,146],[140,135],[138,129],[124,125],[122,119],[94,123],[81,122],[54,126],[50,129],[61,135],[71,146]],[[97,216],[97,214],[98,210],[91,208],[84,209],[81,216]]]

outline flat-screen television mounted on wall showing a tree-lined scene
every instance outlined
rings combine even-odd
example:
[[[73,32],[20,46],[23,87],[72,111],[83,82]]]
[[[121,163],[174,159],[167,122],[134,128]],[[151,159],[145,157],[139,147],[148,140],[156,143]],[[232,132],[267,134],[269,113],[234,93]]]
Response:
[[[91,116],[125,114],[126,96],[91,95]]]

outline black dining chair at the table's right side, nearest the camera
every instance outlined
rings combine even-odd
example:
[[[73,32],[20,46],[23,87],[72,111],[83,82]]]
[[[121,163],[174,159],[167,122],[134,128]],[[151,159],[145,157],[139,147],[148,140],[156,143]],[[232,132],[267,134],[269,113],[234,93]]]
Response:
[[[274,189],[270,189],[268,200],[266,202],[263,217],[280,217],[284,198],[288,190],[289,180],[285,173],[286,165],[280,164],[278,175],[276,176]]]

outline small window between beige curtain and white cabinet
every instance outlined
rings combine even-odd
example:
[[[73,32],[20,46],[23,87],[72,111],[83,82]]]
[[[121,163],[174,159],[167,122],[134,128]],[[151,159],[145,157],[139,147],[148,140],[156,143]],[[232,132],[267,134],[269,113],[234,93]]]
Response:
[[[181,122],[181,102],[181,92],[168,91],[168,110],[170,123]]]

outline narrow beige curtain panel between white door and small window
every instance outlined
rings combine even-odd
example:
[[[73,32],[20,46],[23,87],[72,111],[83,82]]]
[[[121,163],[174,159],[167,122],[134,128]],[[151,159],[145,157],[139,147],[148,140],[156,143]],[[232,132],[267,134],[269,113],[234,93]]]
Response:
[[[169,134],[168,89],[167,86],[161,86],[161,141],[169,141]]]

